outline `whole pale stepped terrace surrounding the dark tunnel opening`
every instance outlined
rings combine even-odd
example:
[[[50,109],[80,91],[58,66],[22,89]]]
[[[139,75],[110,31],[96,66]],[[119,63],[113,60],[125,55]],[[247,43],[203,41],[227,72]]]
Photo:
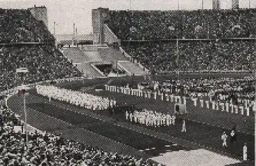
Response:
[[[85,73],[88,77],[102,77],[101,73],[92,67],[95,64],[110,64],[116,63],[120,68],[125,70],[128,75],[145,75],[146,72],[139,68],[137,64],[128,61],[128,58],[121,53],[120,50],[107,47],[107,48],[62,48],[64,55],[71,59],[73,64],[76,64],[79,71]]]

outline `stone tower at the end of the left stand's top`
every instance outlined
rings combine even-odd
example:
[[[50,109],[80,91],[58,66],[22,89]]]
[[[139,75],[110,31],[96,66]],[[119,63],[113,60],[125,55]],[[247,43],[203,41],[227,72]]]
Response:
[[[48,28],[47,8],[45,6],[34,6],[34,8],[28,8],[33,17],[39,21],[43,21]]]

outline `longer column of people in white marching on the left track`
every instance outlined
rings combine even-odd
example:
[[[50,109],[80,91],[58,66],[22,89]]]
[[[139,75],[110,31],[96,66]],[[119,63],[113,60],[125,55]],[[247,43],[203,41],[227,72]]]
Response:
[[[61,89],[52,85],[37,85],[36,90],[38,94],[49,98],[49,102],[51,102],[51,98],[53,98],[55,100],[69,102],[76,106],[85,107],[86,109],[105,110],[117,104],[115,100],[80,91]]]

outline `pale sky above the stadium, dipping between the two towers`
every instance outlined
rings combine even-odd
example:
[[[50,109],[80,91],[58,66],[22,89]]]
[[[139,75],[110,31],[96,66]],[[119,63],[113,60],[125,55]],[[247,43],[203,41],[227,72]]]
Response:
[[[131,1],[131,3],[130,3]],[[212,8],[212,0],[203,0],[204,8]],[[256,0],[240,0],[241,8],[256,8]],[[230,8],[232,0],[221,0],[221,8]],[[73,33],[73,23],[78,34],[92,32],[92,9],[110,8],[111,10],[177,10],[178,0],[0,0],[0,8],[31,8],[46,6],[49,29],[53,33],[56,21],[56,33]],[[202,0],[179,0],[180,10],[202,8]]]

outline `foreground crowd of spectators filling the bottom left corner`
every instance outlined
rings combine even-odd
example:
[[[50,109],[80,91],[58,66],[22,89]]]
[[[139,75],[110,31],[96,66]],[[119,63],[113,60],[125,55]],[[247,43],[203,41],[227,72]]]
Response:
[[[24,127],[15,129],[23,125],[17,117],[10,109],[1,108],[0,165],[154,165],[38,130],[29,131],[26,142]]]

